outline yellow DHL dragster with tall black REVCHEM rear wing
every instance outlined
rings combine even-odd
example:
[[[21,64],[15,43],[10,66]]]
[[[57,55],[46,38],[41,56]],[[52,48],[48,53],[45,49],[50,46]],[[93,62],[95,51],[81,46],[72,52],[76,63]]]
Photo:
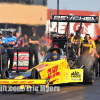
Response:
[[[86,16],[78,16],[77,18],[85,18],[84,20],[75,20],[75,16],[58,17],[56,15],[50,16],[50,22],[68,22],[65,34],[58,34],[52,32],[51,40],[52,47],[44,56],[43,62],[31,68],[30,70],[19,75],[11,75],[8,70],[4,68],[1,73],[1,79],[46,79],[49,84],[62,83],[85,83],[92,84],[95,79],[95,71],[93,67],[93,59],[90,56],[81,56],[78,59],[71,52],[70,39],[68,38],[69,22],[89,22],[97,23],[97,20],[90,22],[86,20]],[[90,16],[88,16],[90,18]],[[92,16],[93,17],[93,16]],[[71,18],[71,19],[70,19]],[[81,34],[80,24],[80,34]],[[67,36],[66,36],[67,35]],[[48,34],[49,37],[49,34]]]

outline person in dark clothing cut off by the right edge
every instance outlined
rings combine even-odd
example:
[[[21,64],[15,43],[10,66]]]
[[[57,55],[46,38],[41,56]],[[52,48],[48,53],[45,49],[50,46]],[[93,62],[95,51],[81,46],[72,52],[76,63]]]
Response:
[[[95,44],[96,44],[96,52],[95,52],[95,56],[96,56],[96,60],[95,60],[95,64],[99,66],[96,66],[96,76],[100,76],[100,35],[98,35],[98,39],[95,40]]]

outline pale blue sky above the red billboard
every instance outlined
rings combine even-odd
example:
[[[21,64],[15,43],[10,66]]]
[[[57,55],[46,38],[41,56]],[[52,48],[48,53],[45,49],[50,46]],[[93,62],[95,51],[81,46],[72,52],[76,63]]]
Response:
[[[57,9],[57,0],[47,3],[48,9]],[[59,0],[59,9],[100,11],[100,0]]]

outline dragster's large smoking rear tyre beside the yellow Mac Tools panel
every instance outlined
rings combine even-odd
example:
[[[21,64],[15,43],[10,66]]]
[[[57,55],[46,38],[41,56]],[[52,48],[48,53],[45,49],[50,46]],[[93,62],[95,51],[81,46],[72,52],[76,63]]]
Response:
[[[92,65],[92,58],[78,58],[78,65],[84,65],[84,74],[83,74],[83,83],[84,84],[93,84],[95,79],[95,70]]]

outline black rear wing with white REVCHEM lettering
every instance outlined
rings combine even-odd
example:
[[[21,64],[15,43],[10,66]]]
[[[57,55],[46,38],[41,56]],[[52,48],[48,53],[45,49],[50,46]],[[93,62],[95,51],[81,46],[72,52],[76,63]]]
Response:
[[[50,22],[98,23],[98,16],[51,15]]]

